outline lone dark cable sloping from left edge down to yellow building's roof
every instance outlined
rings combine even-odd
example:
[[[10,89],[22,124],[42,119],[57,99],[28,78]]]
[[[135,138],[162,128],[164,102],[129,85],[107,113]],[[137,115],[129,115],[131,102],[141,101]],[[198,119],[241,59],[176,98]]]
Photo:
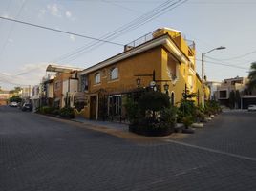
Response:
[[[6,17],[3,17],[3,16],[0,16],[0,19],[4,19],[4,20],[11,21],[11,22],[16,22],[16,23],[24,24],[24,25],[29,25],[29,26],[32,26],[32,27],[41,28],[41,29],[49,30],[49,31],[53,31],[53,32],[67,33],[67,34],[72,34],[72,35],[75,35],[75,36],[78,36],[78,37],[82,37],[82,38],[96,40],[96,41],[99,41],[99,42],[104,42],[104,43],[124,46],[123,44],[116,43],[116,42],[102,40],[102,39],[94,38],[94,37],[91,37],[91,36],[86,36],[86,35],[83,35],[83,34],[78,34],[78,33],[75,33],[75,32],[65,32],[65,31],[62,31],[62,30],[56,30],[56,29],[53,29],[53,28],[50,28],[50,27],[36,25],[36,24],[32,24],[32,23],[28,23],[28,22],[24,22],[24,21],[20,21],[20,20],[16,20],[16,19],[6,18]]]

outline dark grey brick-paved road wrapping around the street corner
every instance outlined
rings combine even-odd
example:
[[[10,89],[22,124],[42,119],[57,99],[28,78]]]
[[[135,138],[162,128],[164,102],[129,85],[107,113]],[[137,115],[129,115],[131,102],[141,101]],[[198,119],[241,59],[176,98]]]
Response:
[[[226,125],[238,117],[236,123],[243,126]],[[136,144],[0,107],[0,190],[256,190],[256,128],[245,120],[255,124],[255,114],[224,114],[216,120],[221,125],[210,123],[179,140],[196,148],[173,142]]]

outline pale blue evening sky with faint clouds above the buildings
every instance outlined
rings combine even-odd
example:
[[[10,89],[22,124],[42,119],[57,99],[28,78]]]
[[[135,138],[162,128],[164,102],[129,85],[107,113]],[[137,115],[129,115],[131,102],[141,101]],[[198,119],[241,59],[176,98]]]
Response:
[[[166,10],[144,24],[129,26],[141,16],[152,15],[160,5]],[[247,76],[256,61],[255,8],[255,0],[0,0],[1,17],[84,36],[0,19],[0,86],[36,85],[48,64],[85,69],[162,27],[179,30],[195,41],[199,74],[202,53],[226,47],[206,54],[208,80]],[[123,31],[105,37],[117,29]]]

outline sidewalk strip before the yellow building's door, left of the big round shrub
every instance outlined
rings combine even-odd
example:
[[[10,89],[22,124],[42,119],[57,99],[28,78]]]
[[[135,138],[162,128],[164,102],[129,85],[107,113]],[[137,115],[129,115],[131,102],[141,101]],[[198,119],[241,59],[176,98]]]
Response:
[[[119,130],[123,132],[128,132],[129,131],[129,125],[125,123],[120,123],[120,122],[113,122],[113,121],[101,121],[101,120],[89,120],[84,117],[75,117],[72,119],[75,122],[80,122],[85,125],[91,125],[91,126],[98,126],[98,127],[105,127],[108,129],[114,129],[114,130]]]

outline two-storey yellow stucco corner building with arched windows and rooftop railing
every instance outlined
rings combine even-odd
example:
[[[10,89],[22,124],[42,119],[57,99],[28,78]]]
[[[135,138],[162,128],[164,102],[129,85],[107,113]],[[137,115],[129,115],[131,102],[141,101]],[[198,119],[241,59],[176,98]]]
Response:
[[[85,104],[79,113],[91,119],[124,118],[126,96],[150,86],[168,94],[174,105],[185,87],[202,94],[195,54],[195,43],[179,31],[162,28],[142,36],[125,45],[123,53],[80,72]]]

